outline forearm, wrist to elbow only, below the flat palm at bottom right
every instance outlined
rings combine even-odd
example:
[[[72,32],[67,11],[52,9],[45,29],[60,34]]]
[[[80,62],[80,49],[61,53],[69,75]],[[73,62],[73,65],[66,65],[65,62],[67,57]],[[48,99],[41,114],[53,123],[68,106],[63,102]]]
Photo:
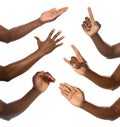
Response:
[[[118,118],[115,111],[111,107],[98,107],[85,101],[81,105],[81,108],[101,119],[115,120],[116,118]]]

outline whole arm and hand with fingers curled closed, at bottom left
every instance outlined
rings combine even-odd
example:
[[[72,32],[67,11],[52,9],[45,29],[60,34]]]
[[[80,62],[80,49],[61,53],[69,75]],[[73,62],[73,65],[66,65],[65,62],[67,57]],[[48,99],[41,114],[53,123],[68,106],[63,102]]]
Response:
[[[10,120],[23,113],[48,88],[49,84],[55,82],[55,80],[48,72],[37,72],[33,76],[33,87],[21,99],[8,104],[0,100],[0,118]]]

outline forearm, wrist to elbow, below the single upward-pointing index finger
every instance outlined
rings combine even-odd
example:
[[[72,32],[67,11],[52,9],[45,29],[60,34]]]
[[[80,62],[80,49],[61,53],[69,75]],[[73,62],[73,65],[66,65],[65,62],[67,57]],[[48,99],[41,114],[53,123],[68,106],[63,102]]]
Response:
[[[97,47],[98,51],[105,56],[106,58],[114,58],[114,50],[112,46],[108,45],[106,42],[102,40],[98,33],[91,36],[95,46]]]

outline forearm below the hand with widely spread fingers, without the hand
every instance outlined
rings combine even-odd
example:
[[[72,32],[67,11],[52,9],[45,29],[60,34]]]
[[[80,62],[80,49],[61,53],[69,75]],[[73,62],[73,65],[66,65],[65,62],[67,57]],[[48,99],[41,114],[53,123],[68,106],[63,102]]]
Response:
[[[0,80],[10,81],[11,79],[23,74],[44,55],[45,54],[42,51],[37,50],[26,58],[5,66],[2,69],[3,71],[1,72]]]

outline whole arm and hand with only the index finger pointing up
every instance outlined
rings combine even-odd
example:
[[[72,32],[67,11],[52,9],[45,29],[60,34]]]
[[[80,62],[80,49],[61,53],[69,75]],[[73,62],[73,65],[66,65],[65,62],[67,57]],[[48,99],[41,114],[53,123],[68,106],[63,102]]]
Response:
[[[120,57],[120,43],[109,45],[99,35],[98,31],[101,28],[101,24],[94,20],[94,16],[90,7],[88,7],[89,17],[85,17],[82,23],[84,32],[93,40],[98,51],[106,58],[118,58]]]

